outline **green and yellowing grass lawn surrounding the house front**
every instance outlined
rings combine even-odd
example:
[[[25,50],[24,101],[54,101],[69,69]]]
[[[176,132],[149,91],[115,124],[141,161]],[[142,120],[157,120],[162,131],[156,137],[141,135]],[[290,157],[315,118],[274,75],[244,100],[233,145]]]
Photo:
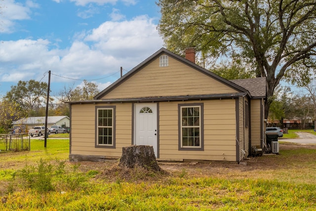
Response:
[[[293,145],[296,146],[296,145]],[[284,147],[284,148],[282,148]],[[157,173],[113,162],[70,163],[69,139],[33,139],[0,154],[0,210],[314,211],[316,148],[280,146],[248,165],[208,162]]]

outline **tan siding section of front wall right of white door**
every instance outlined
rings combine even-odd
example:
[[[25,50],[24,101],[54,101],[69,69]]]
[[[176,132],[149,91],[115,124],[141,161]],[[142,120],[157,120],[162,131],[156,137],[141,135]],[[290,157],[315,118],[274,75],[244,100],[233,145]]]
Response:
[[[160,102],[159,159],[236,161],[235,100],[205,100],[188,103],[204,104],[204,150],[178,150],[179,102]]]

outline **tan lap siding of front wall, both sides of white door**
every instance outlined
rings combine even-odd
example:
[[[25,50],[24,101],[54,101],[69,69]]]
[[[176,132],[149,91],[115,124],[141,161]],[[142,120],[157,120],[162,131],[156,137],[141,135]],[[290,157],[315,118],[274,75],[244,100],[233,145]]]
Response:
[[[204,150],[179,150],[178,104],[203,103]],[[116,106],[116,148],[95,148],[95,106]],[[71,154],[119,158],[132,140],[132,105],[72,104]],[[223,115],[224,114],[224,115]],[[159,160],[236,161],[236,100],[159,103]]]

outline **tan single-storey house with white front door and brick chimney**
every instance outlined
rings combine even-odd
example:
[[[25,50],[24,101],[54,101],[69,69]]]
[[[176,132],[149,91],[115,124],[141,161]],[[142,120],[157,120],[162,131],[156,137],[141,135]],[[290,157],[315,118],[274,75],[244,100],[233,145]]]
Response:
[[[101,91],[70,103],[70,160],[120,158],[151,145],[157,160],[242,161],[264,137],[265,78],[225,80],[161,48]]]

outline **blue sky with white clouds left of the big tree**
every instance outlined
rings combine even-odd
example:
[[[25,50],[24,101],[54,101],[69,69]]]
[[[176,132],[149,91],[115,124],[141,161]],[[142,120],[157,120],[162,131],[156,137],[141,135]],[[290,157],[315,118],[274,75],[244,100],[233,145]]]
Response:
[[[0,96],[18,81],[51,96],[88,80],[100,90],[163,47],[155,0],[0,0]],[[101,79],[102,78],[102,79]],[[95,80],[101,79],[101,80]]]

